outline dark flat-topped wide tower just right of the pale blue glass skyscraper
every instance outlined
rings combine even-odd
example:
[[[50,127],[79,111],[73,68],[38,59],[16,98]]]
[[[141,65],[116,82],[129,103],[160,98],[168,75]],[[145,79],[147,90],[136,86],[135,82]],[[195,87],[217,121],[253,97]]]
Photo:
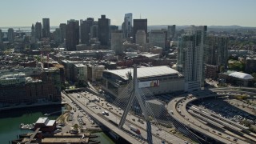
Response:
[[[136,40],[137,30],[144,30],[145,33],[147,34],[147,19],[134,19],[134,29],[133,29],[134,42]]]

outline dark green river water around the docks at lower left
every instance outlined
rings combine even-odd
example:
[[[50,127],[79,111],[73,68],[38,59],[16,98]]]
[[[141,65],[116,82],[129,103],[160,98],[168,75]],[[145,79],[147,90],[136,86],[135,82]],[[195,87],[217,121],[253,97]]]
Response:
[[[17,139],[18,134],[26,134],[30,130],[21,130],[21,123],[34,123],[43,114],[63,110],[62,106],[39,106],[36,108],[25,108],[17,110],[0,111],[0,140],[1,144],[8,144],[11,140]],[[50,119],[56,119],[61,113],[48,116]],[[101,143],[114,144],[114,142],[104,133],[98,133],[100,137],[95,138]]]

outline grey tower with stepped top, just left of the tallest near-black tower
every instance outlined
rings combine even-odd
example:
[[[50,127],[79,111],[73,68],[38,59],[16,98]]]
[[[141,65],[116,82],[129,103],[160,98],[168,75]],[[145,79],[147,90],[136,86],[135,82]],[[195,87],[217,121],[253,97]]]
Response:
[[[90,27],[94,24],[94,18],[87,18],[86,21],[82,21],[80,24],[80,35],[81,35],[81,43],[89,44],[90,40]]]

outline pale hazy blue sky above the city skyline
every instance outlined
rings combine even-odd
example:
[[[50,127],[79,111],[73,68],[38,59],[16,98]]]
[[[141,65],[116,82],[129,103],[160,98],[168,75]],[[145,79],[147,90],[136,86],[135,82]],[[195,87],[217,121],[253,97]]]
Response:
[[[50,18],[50,26],[68,19],[98,20],[122,25],[124,14],[147,18],[148,25],[255,26],[256,0],[4,0],[0,2],[0,27],[31,26]]]

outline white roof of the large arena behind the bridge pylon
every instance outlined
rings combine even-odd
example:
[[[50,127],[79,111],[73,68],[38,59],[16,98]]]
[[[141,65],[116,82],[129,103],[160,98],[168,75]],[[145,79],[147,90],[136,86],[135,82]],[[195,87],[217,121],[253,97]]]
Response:
[[[122,69],[122,70],[105,70],[111,74],[116,74],[119,77],[128,80],[128,72],[134,74],[133,68]],[[139,67],[137,68],[137,77],[138,78],[150,78],[150,77],[159,77],[170,74],[179,74],[177,70],[170,68],[169,66],[152,66],[152,67]]]

